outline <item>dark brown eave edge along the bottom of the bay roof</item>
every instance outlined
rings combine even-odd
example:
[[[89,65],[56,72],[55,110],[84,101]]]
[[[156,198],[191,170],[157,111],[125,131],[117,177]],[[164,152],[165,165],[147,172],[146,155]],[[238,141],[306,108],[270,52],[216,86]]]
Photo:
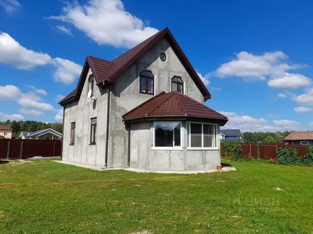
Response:
[[[192,122],[208,122],[212,124],[219,124],[224,126],[228,119],[213,119],[213,118],[203,118],[197,116],[186,116],[186,115],[162,115],[162,116],[143,116],[133,119],[124,119],[126,124],[146,122],[146,121],[192,121]]]

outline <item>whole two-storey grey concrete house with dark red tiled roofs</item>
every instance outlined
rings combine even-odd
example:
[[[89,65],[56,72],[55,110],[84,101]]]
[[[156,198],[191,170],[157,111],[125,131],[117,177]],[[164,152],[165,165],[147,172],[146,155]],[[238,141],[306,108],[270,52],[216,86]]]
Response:
[[[91,98],[87,95],[90,94]],[[227,117],[168,28],[107,61],[87,56],[60,101],[62,160],[150,171],[216,170]]]

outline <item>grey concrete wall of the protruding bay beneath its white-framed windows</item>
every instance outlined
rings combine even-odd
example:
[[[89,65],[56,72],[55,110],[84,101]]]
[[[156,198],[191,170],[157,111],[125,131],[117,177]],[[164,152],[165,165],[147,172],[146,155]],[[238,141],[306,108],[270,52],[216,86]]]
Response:
[[[152,171],[208,171],[220,165],[220,135],[218,126],[218,150],[187,150],[186,122],[182,122],[183,150],[155,150],[153,122],[131,124],[130,167]]]

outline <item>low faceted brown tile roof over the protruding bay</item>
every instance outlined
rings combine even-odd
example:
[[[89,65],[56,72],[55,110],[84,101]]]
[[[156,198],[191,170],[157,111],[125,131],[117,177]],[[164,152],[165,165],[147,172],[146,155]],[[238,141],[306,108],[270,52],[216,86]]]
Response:
[[[189,116],[227,120],[215,110],[177,91],[164,91],[122,116],[124,120],[151,116]]]

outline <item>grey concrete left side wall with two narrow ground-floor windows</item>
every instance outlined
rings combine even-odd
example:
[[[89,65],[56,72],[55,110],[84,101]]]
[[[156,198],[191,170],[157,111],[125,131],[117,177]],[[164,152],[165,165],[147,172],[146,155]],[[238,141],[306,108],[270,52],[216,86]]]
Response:
[[[90,74],[91,71],[87,77]],[[82,95],[86,97],[87,93],[88,79],[85,81]],[[80,100],[65,106],[62,160],[104,167],[107,89],[95,85],[93,98],[97,98],[97,101],[81,96]],[[97,117],[97,140],[95,145],[90,145],[90,118],[94,117]],[[71,122],[76,123],[74,145],[69,145]]]

